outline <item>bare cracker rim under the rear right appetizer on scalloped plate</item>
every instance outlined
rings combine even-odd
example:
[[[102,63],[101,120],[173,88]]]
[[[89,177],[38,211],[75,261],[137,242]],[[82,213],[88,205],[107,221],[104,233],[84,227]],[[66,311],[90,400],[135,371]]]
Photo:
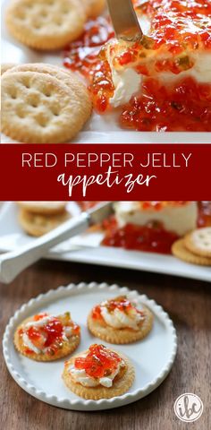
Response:
[[[89,331],[97,338],[109,343],[121,345],[136,342],[137,340],[144,339],[148,336],[148,333],[152,330],[153,326],[153,314],[146,306],[143,306],[143,311],[145,319],[142,321],[141,326],[137,331],[132,329],[114,329],[113,327],[109,327],[106,323],[98,323],[97,320],[92,318],[91,311],[88,316]]]

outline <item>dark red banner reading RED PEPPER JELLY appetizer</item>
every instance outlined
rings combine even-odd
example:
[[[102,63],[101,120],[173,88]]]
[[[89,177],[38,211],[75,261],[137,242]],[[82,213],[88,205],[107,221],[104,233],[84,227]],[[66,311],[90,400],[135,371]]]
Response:
[[[1,201],[211,200],[211,145],[0,145]]]

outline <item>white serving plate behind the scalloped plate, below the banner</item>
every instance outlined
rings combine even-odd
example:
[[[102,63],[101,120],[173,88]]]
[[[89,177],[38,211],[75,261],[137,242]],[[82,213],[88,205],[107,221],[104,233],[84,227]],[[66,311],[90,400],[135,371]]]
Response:
[[[80,213],[78,205],[69,202],[67,209],[73,216]],[[46,258],[67,262],[86,262],[138,271],[151,271],[182,276],[193,280],[211,281],[211,268],[181,262],[173,255],[128,251],[100,245],[103,234],[87,232],[55,246]],[[18,223],[18,209],[13,202],[0,205],[0,252],[4,253],[28,244],[36,238],[27,236]]]

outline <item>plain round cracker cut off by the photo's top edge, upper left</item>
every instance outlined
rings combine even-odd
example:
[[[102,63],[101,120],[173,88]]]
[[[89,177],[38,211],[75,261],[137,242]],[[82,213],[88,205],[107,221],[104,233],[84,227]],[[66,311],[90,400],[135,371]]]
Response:
[[[24,45],[40,50],[64,47],[83,32],[86,13],[78,0],[12,0],[6,24]]]

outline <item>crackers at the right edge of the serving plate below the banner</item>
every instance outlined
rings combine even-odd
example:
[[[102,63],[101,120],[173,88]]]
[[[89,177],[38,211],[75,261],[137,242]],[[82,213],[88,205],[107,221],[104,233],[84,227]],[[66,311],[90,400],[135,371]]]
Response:
[[[184,262],[211,266],[211,227],[191,231],[174,242],[172,252]]]

